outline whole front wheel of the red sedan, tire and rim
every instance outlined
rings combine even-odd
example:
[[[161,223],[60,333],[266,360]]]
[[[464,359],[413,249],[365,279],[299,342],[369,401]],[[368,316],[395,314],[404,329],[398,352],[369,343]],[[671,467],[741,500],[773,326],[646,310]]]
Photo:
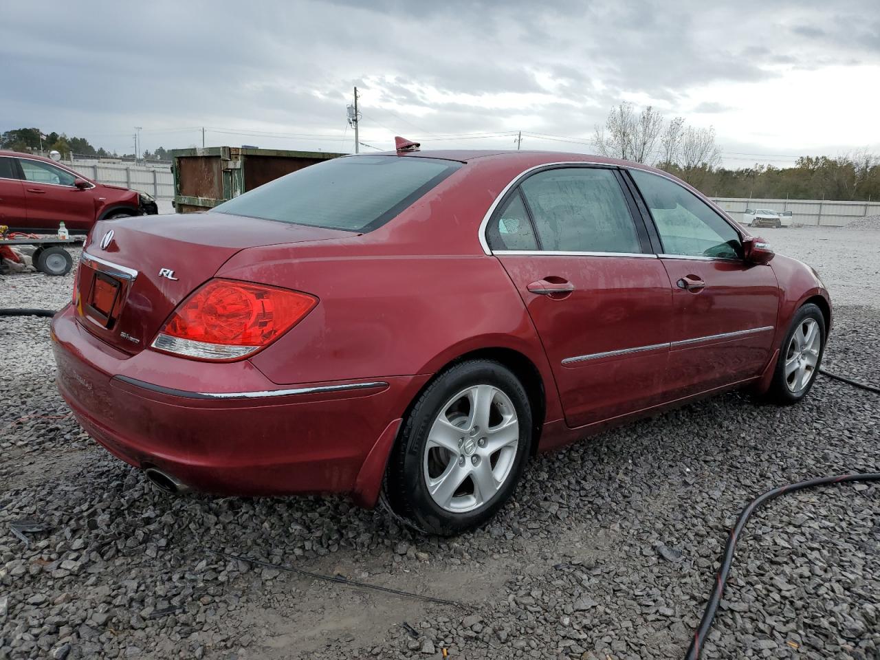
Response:
[[[783,405],[802,400],[810,392],[825,350],[825,317],[812,303],[795,314],[776,363],[767,396]]]

